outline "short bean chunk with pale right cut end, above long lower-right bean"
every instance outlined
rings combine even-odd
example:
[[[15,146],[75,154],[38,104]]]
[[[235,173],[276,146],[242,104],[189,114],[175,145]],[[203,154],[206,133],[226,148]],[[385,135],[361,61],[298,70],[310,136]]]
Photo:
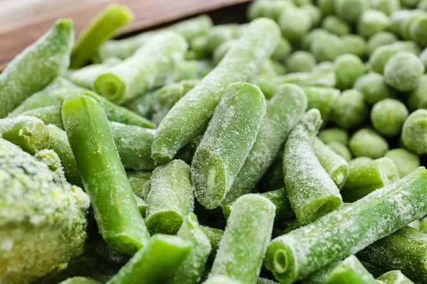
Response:
[[[349,176],[341,190],[342,199],[354,202],[396,180],[399,180],[399,171],[389,158],[354,160],[349,163]]]

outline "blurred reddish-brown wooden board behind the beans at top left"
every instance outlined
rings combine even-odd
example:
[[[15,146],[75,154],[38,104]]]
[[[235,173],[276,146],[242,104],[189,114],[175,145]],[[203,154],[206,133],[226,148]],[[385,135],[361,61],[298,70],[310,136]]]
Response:
[[[16,0],[19,1],[19,0]],[[177,21],[181,18],[186,18],[199,13],[208,11],[223,11],[221,8],[249,2],[250,0],[117,0],[107,1],[119,4],[125,4],[135,13],[135,21],[128,25],[123,34],[135,33],[145,28],[158,26],[164,23]],[[93,6],[80,7],[68,11],[59,11],[51,13],[43,18],[31,18],[24,23],[19,23],[16,26],[0,27],[0,70],[17,54],[34,43],[38,38],[46,33],[52,24],[58,18],[73,18],[76,34],[90,22],[95,15],[104,9],[105,1]],[[236,11],[228,11],[226,13],[216,13],[214,20],[218,22],[226,22],[222,18],[239,18],[241,21],[244,17],[241,8]],[[235,21],[235,20],[233,20]]]

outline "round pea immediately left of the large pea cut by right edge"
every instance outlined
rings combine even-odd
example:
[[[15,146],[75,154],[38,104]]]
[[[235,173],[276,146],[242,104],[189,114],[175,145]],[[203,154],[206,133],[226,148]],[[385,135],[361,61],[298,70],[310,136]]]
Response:
[[[384,136],[396,136],[408,117],[408,109],[397,99],[383,99],[371,110],[372,125]]]

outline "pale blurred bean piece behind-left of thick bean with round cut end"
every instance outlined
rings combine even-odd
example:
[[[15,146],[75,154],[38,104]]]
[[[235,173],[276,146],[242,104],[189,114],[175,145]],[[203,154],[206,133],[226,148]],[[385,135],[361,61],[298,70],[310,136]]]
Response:
[[[122,60],[119,58],[107,58],[101,64],[92,64],[77,70],[70,70],[67,77],[80,87],[92,89],[93,82],[98,75],[107,70],[108,67],[115,66],[120,62]]]

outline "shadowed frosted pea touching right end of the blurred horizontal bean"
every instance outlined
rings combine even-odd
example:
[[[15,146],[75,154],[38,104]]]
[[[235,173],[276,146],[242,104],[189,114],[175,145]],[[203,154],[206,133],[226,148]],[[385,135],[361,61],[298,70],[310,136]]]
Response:
[[[337,126],[352,129],[359,126],[368,116],[364,97],[357,89],[348,89],[332,104],[331,119]]]

